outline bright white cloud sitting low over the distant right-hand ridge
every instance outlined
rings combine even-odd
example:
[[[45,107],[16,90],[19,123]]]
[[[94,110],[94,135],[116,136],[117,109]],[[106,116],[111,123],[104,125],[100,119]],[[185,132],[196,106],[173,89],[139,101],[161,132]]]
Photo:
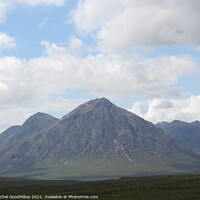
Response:
[[[200,95],[182,99],[157,98],[133,103],[131,111],[153,123],[175,119],[192,122],[200,120]]]

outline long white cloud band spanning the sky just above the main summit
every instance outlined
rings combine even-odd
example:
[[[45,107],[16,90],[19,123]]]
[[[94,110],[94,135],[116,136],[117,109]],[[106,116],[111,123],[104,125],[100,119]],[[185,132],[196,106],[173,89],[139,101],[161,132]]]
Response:
[[[45,41],[41,44],[44,57],[0,58],[1,104],[59,94],[67,88],[85,88],[108,97],[182,96],[173,84],[196,69],[195,63],[184,56],[147,59],[99,54],[80,58],[68,48]]]

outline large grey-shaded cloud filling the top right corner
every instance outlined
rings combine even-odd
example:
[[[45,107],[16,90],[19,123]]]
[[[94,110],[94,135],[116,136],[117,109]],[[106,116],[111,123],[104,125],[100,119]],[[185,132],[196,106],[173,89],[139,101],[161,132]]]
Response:
[[[71,20],[103,52],[130,45],[199,45],[198,0],[84,0]]]

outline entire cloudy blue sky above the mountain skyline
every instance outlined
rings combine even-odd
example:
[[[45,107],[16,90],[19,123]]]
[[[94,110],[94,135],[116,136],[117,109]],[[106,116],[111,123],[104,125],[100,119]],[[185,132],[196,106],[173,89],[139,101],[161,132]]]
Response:
[[[0,130],[107,97],[200,120],[199,0],[0,0]]]

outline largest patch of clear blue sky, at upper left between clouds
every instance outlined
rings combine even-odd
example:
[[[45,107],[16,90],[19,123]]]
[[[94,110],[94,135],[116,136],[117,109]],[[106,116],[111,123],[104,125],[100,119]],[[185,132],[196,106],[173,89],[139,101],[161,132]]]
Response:
[[[15,37],[17,48],[4,52],[4,55],[14,54],[28,59],[43,55],[42,40],[66,44],[75,33],[73,24],[65,22],[71,6],[68,3],[61,7],[21,5],[10,11],[6,22],[1,25],[1,31]]]

